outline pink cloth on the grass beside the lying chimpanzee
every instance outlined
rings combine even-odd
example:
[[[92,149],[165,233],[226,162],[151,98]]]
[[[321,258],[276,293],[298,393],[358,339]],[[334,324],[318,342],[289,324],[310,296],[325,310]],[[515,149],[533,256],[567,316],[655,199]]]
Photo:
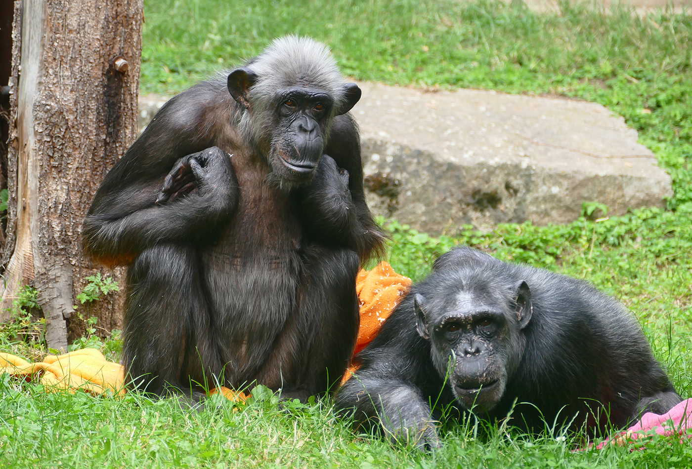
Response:
[[[597,449],[601,449],[608,444],[625,445],[628,441],[646,437],[650,434],[659,434],[662,437],[672,437],[681,435],[683,439],[692,437],[692,399],[686,399],[675,405],[663,415],[648,412],[641,417],[641,420],[632,425],[624,432],[620,432],[616,437],[603,441]]]

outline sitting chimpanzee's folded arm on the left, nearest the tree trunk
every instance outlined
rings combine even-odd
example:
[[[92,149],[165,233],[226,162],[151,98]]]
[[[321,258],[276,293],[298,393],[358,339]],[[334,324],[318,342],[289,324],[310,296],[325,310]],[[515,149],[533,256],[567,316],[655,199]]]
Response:
[[[210,106],[223,96],[218,91],[206,83],[176,96],[113,166],[84,220],[84,247],[91,256],[111,265],[128,263],[160,242],[199,240],[233,213],[238,188],[230,157],[208,148],[215,133],[210,122],[221,121],[219,108],[228,109]],[[173,198],[166,185],[179,197],[168,200]]]

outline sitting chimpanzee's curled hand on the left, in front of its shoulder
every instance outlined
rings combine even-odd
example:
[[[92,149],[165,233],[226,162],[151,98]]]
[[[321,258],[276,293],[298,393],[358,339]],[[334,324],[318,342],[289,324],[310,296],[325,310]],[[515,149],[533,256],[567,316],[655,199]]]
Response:
[[[235,183],[233,165],[228,153],[217,146],[176,161],[163,181],[157,204],[172,202],[186,194],[206,195],[215,191],[228,191]]]

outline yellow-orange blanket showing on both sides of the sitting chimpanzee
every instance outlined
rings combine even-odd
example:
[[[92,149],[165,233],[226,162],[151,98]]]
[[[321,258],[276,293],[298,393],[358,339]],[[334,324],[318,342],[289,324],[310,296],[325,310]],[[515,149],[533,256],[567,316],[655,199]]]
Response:
[[[381,262],[371,271],[361,270],[356,279],[356,292],[361,307],[361,328],[358,331],[356,352],[377,335],[384,320],[411,285],[411,280],[394,272]],[[355,367],[349,368],[345,379]],[[119,363],[107,361],[96,349],[75,350],[64,355],[46,355],[44,361],[29,363],[23,358],[0,352],[0,374],[9,373],[17,378],[46,385],[46,391],[82,390],[91,394],[122,396],[126,392],[125,372]],[[233,401],[245,401],[248,396],[228,387],[218,387],[209,394],[221,392]]]

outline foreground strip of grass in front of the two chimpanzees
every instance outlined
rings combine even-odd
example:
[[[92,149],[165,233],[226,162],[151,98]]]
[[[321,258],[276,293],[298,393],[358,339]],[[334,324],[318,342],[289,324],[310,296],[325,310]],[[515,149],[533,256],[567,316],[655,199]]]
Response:
[[[450,429],[441,450],[423,454],[354,437],[322,401],[280,408],[261,393],[246,405],[221,398],[200,413],[174,399],[52,394],[7,379],[0,393],[0,461],[12,468],[661,468],[692,461],[689,445],[659,439],[636,446],[645,451],[575,452],[570,438],[518,437],[468,421]]]

